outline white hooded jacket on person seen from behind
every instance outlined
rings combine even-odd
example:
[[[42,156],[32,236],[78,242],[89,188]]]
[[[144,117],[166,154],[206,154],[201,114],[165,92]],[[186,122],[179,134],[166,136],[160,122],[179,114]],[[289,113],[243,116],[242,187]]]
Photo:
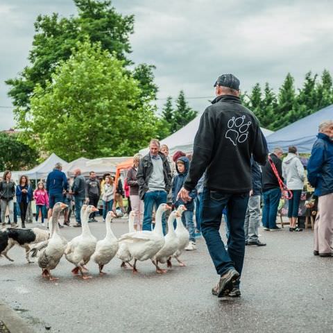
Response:
[[[296,154],[288,153],[282,162],[282,176],[289,189],[303,189],[305,173]]]

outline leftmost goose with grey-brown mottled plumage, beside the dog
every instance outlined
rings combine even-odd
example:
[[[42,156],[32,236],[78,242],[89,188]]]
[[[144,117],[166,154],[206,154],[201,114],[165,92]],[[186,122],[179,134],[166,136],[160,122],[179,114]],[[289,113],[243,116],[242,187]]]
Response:
[[[58,280],[58,278],[53,278],[50,271],[58,266],[67,246],[67,240],[60,235],[58,225],[60,212],[66,207],[65,203],[54,205],[51,216],[51,238],[48,239],[47,243],[42,242],[46,246],[42,249],[38,258],[38,265],[42,268],[42,276],[49,278],[49,280]]]

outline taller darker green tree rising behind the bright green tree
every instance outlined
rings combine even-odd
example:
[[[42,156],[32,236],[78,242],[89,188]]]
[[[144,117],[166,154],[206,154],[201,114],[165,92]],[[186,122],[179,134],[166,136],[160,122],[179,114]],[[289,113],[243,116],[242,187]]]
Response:
[[[120,15],[111,6],[111,1],[74,2],[78,8],[77,16],[60,18],[53,13],[37,17],[33,46],[28,56],[30,64],[17,78],[6,80],[11,86],[8,95],[17,107],[14,112],[19,120],[26,117],[36,85],[45,87],[57,65],[67,60],[77,42],[83,42],[86,36],[92,42],[101,42],[102,49],[110,51],[116,58],[125,60],[124,66],[130,63],[126,54],[130,52],[133,15]]]

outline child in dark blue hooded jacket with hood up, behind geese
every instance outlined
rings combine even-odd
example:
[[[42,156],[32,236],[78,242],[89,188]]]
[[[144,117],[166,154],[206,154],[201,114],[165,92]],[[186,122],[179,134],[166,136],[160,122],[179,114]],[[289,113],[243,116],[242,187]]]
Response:
[[[185,205],[185,212],[182,213],[182,223],[189,230],[189,245],[185,248],[185,250],[195,250],[196,249],[196,237],[194,230],[194,222],[193,222],[193,212],[194,212],[194,198],[196,198],[196,189],[191,191],[189,196],[191,197],[191,201],[185,203],[180,198],[177,198],[178,192],[182,188],[185,182],[185,178],[187,173],[189,172],[189,159],[187,157],[180,157],[176,161],[176,171],[178,175],[173,178],[172,182],[172,203],[176,208],[180,205]]]

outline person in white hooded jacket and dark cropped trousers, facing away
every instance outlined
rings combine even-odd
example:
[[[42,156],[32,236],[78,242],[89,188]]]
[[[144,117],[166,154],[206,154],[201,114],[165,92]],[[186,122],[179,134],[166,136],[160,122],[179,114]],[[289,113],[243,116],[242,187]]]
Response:
[[[305,173],[295,146],[289,147],[288,155],[283,159],[282,176],[287,181],[287,187],[293,194],[293,197],[288,201],[289,231],[302,231],[302,229],[296,227],[296,222],[298,207],[300,206],[300,195],[304,187]]]

